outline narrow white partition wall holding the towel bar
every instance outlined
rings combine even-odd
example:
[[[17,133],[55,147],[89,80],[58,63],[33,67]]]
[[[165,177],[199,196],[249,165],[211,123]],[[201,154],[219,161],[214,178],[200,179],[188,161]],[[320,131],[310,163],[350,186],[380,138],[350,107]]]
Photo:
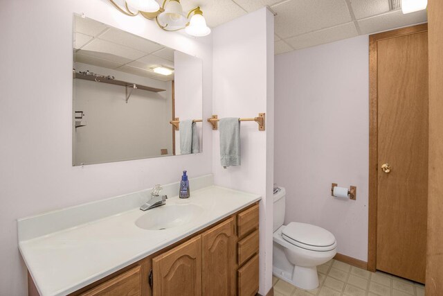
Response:
[[[242,165],[220,165],[219,132],[213,135],[215,184],[262,195],[260,290],[272,286],[273,15],[266,8],[213,30],[213,114],[254,117],[266,112],[266,131],[241,123]],[[271,198],[269,198],[271,197]]]

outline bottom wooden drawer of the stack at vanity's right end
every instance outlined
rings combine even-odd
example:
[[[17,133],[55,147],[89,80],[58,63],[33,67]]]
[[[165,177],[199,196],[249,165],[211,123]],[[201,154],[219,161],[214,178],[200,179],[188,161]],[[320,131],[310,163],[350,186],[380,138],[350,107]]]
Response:
[[[252,296],[258,292],[258,255],[237,271],[238,295]]]

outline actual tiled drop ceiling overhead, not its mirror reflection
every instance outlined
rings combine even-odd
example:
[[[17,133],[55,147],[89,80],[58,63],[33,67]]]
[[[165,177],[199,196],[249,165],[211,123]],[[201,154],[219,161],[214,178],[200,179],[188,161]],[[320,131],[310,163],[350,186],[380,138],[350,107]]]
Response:
[[[162,1],[159,1],[161,4]],[[275,15],[275,54],[427,21],[426,10],[403,15],[400,0],[181,0],[200,6],[208,26],[269,6]]]

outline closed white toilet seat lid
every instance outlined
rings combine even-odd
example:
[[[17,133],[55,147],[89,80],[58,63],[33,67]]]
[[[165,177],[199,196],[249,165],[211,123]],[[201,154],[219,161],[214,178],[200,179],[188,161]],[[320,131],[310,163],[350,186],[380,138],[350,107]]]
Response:
[[[282,238],[307,250],[327,251],[336,247],[334,234],[321,227],[291,222],[282,229]]]

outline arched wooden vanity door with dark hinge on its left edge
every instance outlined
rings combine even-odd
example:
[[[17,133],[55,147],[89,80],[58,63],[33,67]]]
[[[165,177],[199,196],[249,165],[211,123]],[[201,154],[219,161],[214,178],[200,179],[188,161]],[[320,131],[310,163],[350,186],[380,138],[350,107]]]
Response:
[[[152,275],[154,296],[200,296],[200,236],[152,259]]]

